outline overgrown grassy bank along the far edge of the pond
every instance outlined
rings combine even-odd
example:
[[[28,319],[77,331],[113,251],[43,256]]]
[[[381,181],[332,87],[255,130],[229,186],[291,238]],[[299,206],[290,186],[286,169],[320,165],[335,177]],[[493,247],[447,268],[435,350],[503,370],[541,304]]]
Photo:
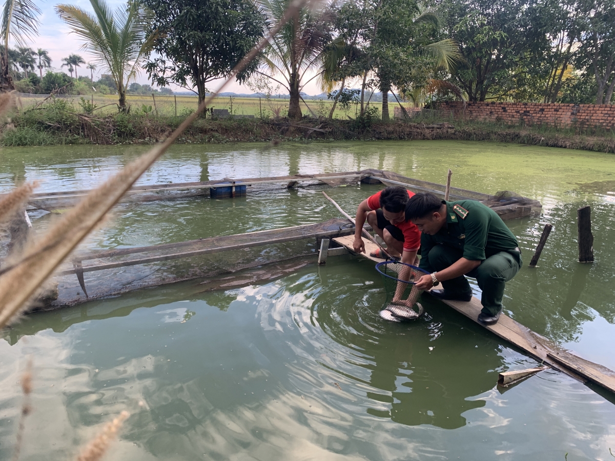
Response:
[[[85,101],[87,102],[87,101]],[[149,144],[162,140],[185,119],[149,112],[92,114],[62,99],[20,110],[2,127],[3,146],[54,144]],[[411,120],[382,122],[373,111],[355,119],[197,119],[180,143],[272,140],[469,140],[500,141],[598,152],[615,152],[615,133],[607,130],[470,122],[445,119],[437,112]]]

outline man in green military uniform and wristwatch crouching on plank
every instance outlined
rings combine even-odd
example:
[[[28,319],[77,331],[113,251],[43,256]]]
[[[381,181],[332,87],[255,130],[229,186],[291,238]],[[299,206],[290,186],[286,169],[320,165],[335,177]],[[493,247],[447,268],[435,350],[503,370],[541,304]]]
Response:
[[[416,194],[406,207],[406,219],[423,232],[421,269],[431,275],[416,287],[440,299],[470,301],[472,289],[464,275],[475,277],[483,291],[478,321],[498,322],[504,286],[523,264],[517,238],[491,208],[475,200],[446,202],[434,194]]]

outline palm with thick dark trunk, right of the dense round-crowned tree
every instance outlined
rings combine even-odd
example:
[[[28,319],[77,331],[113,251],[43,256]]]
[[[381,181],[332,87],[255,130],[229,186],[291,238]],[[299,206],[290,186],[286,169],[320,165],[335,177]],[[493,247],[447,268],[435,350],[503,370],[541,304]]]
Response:
[[[290,0],[263,0],[263,9],[268,16],[268,25],[277,23],[285,14]],[[279,33],[274,36],[271,45],[261,56],[262,62],[269,68],[271,75],[266,75],[288,90],[288,118],[301,119],[299,106],[301,89],[312,79],[320,76],[317,73],[308,81],[304,81],[312,70],[318,69],[323,58],[323,50],[330,42],[328,21],[324,20],[325,10],[314,10],[305,7],[288,21]],[[279,76],[280,80],[276,79]]]

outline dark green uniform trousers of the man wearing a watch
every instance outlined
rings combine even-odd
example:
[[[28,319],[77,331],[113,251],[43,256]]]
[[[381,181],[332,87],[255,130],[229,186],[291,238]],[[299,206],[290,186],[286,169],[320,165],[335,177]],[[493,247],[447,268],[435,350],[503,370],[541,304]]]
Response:
[[[437,272],[450,267],[454,262],[463,256],[462,250],[451,248],[446,245],[434,245],[429,251],[428,272]],[[466,275],[476,278],[478,286],[483,294],[480,304],[483,305],[481,312],[488,315],[495,315],[502,309],[502,296],[504,296],[504,286],[511,278],[519,272],[523,261],[521,253],[512,250],[500,251],[499,253],[485,259],[480,266],[470,270]],[[463,275],[441,282],[447,294],[467,294],[472,293],[472,288]]]

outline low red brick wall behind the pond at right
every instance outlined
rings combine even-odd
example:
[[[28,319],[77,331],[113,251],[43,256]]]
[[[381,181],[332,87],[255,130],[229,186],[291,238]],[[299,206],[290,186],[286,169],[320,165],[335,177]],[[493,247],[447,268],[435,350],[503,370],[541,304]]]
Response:
[[[455,118],[501,120],[510,125],[549,124],[615,129],[615,105],[542,103],[442,103],[439,109]]]

